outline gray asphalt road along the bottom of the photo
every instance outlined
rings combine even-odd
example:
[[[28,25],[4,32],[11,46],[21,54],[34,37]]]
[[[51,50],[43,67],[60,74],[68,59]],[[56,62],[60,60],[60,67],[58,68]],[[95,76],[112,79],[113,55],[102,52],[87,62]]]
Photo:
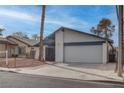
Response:
[[[0,88],[114,88],[111,84],[0,71]]]

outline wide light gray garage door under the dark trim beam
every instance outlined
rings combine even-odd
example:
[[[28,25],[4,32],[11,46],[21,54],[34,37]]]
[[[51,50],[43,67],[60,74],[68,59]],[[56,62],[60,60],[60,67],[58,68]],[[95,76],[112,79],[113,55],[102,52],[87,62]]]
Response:
[[[65,46],[64,61],[102,63],[102,45]]]

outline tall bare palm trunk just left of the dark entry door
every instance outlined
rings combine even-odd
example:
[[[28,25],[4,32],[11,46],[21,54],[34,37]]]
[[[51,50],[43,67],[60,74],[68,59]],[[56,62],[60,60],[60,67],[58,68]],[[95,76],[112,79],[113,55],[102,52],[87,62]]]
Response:
[[[44,32],[44,21],[45,21],[45,9],[46,6],[42,5],[42,14],[41,14],[41,28],[40,28],[40,47],[39,47],[39,61],[44,61],[43,58],[43,32]]]

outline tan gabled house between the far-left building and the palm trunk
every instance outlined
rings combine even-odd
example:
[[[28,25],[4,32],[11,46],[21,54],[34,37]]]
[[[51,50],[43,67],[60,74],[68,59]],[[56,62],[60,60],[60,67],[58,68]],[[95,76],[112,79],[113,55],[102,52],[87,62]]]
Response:
[[[16,42],[18,46],[15,48],[15,54],[19,57],[32,57],[38,59],[39,56],[39,47],[36,45],[39,40],[20,38],[17,36],[8,36],[8,40]],[[31,55],[33,52],[33,56]]]

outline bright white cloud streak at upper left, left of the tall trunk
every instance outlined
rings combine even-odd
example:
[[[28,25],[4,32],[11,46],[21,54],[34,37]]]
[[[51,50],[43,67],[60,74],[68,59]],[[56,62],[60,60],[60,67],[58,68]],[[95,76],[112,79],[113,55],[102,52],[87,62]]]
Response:
[[[0,16],[12,17],[20,20],[35,21],[35,17],[28,13],[23,13],[19,11],[9,10],[9,9],[0,9]]]

